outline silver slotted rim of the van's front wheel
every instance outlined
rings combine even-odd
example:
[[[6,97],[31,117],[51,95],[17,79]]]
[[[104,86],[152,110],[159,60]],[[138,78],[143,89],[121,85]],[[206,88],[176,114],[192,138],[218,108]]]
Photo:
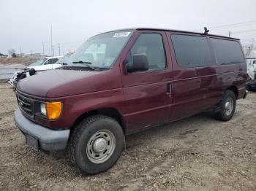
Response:
[[[116,148],[116,138],[110,130],[99,130],[89,139],[86,154],[92,163],[104,163]]]

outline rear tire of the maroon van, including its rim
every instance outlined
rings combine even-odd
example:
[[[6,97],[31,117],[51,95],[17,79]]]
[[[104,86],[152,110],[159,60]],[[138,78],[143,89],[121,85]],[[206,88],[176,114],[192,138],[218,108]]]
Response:
[[[219,111],[215,112],[214,117],[217,120],[228,121],[233,117],[236,110],[236,95],[231,90],[227,90],[219,104]]]

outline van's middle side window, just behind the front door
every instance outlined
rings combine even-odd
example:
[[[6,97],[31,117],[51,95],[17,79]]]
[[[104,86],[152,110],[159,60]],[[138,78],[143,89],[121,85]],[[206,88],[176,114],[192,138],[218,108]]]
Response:
[[[171,35],[176,61],[182,68],[211,66],[211,50],[206,37]]]

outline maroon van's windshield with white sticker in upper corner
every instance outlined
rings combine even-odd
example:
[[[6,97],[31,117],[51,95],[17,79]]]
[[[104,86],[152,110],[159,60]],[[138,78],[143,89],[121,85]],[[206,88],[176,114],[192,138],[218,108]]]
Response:
[[[109,69],[118,58],[132,31],[113,31],[93,36],[67,61],[67,66]]]

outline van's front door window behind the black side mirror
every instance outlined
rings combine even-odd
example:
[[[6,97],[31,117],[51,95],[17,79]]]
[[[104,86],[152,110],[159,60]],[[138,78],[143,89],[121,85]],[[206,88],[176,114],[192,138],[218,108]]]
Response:
[[[128,63],[132,63],[132,56],[145,53],[148,58],[149,70],[166,68],[165,49],[160,34],[140,34],[127,55]]]

